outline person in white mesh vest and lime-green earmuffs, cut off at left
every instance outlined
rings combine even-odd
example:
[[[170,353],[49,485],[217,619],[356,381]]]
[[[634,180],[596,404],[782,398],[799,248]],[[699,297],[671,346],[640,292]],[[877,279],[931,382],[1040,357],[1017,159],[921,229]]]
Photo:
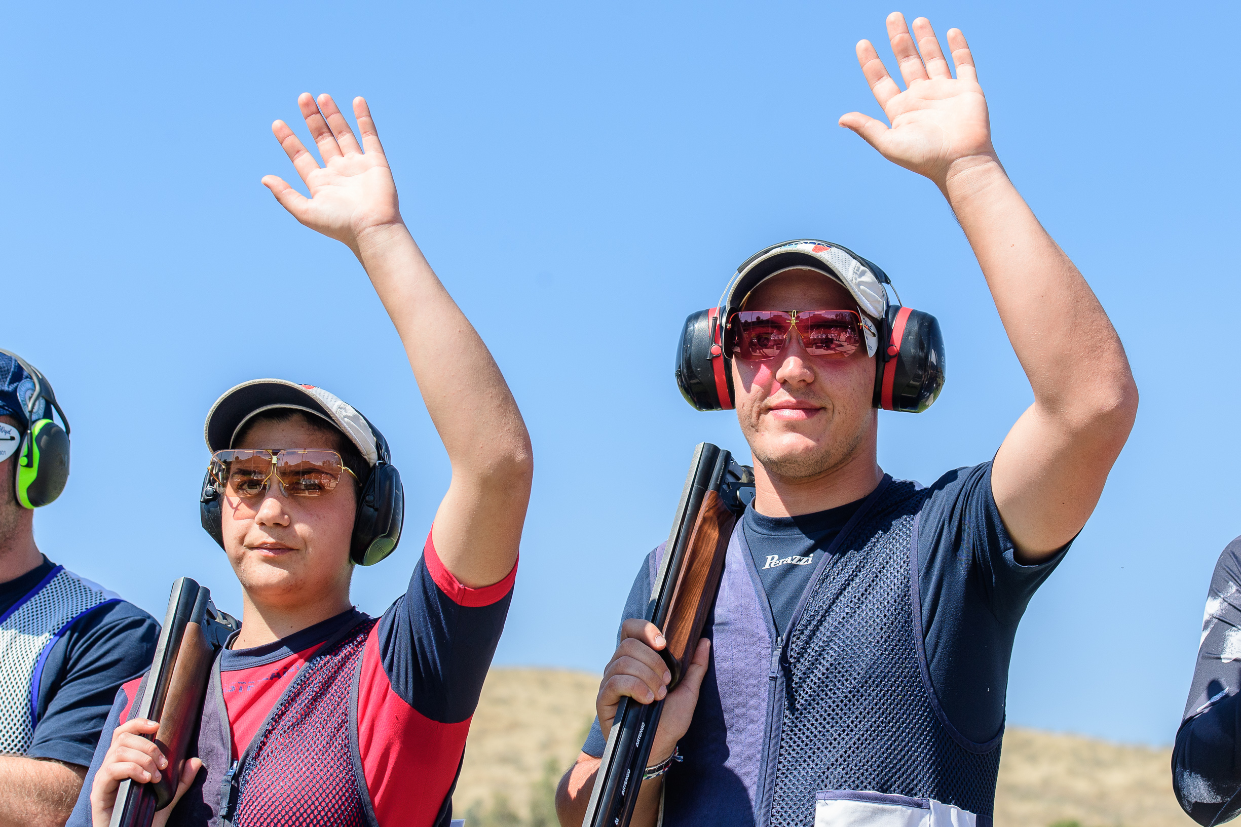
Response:
[[[35,508],[67,477],[48,467],[56,454],[68,464],[68,424],[53,409],[47,378],[0,351],[0,827],[65,823],[117,691],[150,665],[159,634],[145,611],[35,542]]]

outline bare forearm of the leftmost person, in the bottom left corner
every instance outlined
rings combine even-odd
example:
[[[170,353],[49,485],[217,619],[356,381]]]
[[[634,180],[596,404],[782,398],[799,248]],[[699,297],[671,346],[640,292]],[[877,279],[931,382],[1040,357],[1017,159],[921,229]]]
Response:
[[[24,755],[0,755],[0,827],[62,827],[86,769]]]

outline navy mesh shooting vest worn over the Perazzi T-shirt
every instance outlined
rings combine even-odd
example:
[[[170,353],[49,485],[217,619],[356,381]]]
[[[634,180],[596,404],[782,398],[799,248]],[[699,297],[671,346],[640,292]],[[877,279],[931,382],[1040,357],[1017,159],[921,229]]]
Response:
[[[922,650],[927,495],[884,479],[822,558],[783,655],[737,526],[665,827],[989,827],[1000,735],[957,733]]]

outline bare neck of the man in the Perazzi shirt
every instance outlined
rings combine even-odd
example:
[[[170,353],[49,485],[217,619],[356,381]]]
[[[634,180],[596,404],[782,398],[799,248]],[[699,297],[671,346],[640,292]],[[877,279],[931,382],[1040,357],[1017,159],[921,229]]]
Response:
[[[861,500],[884,479],[875,450],[871,436],[845,460],[808,477],[782,476],[755,458],[755,510],[766,517],[797,517]]]

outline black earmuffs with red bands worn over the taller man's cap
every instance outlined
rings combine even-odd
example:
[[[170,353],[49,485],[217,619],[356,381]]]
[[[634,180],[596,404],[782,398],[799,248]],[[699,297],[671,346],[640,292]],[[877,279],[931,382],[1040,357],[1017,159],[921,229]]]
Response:
[[[813,253],[834,253],[817,257]],[[776,253],[776,250],[787,250]],[[840,253],[848,258],[840,258]],[[727,320],[741,309],[750,290],[767,274],[793,265],[830,269],[841,279],[851,279],[856,296],[859,274],[872,275],[884,291],[879,306],[884,307],[876,321],[875,391],[872,404],[884,410],[921,413],[939,396],[944,383],[944,348],[939,322],[928,312],[887,301],[882,285],[892,280],[882,269],[846,247],[817,239],[797,239],[772,244],[746,259],[730,280],[720,305],[692,312],[681,327],[676,347],[676,386],[685,400],[699,410],[727,410],[735,407],[732,388],[732,356],[727,347]],[[841,273],[849,264],[850,273]],[[869,270],[869,274],[866,273]],[[874,283],[871,283],[874,284]],[[896,288],[892,286],[892,293]],[[877,312],[877,311],[876,311]],[[862,317],[866,310],[862,309]]]

